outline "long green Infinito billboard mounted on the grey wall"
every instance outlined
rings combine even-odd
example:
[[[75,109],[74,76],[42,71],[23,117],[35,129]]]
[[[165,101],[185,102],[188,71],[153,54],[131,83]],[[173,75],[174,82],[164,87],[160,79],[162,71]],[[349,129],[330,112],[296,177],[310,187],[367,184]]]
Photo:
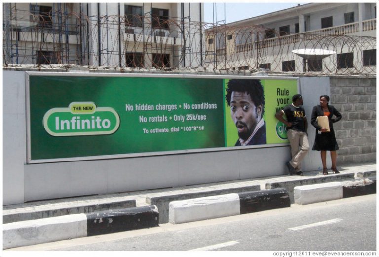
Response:
[[[226,101],[233,78],[92,74],[28,78],[29,163],[225,150],[236,145],[237,130],[243,130],[242,125],[236,127],[237,103],[234,98],[232,103]],[[274,114],[298,92],[297,80],[259,82],[265,104],[257,110],[263,113],[265,144],[286,143]]]

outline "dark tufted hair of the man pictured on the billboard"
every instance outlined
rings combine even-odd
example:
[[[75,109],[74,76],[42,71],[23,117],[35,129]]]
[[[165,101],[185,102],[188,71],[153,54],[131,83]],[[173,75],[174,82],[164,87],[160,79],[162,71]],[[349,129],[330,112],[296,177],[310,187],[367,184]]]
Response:
[[[264,113],[265,96],[263,94],[263,87],[259,79],[231,79],[227,83],[227,94],[225,99],[227,105],[230,106],[231,93],[233,91],[246,92],[250,95],[251,100],[255,106],[262,105],[262,115]]]

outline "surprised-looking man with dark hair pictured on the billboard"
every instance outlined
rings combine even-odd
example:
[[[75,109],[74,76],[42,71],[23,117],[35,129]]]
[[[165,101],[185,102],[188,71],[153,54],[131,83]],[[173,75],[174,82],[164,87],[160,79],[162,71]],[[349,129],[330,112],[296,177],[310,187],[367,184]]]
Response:
[[[225,98],[238,131],[235,146],[266,144],[265,96],[260,80],[229,80]]]

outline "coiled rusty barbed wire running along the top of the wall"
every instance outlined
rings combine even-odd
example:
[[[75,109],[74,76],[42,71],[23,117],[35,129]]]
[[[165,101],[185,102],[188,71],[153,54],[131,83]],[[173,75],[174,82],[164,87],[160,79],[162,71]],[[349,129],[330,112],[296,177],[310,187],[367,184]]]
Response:
[[[285,34],[255,25],[215,26],[151,15],[50,12],[4,20],[8,21],[3,24],[4,67],[70,64],[92,69],[202,67],[289,74],[376,74],[376,37],[356,35],[356,24]],[[373,20],[362,30],[375,33]],[[335,54],[304,60],[293,52],[299,49],[324,49]]]

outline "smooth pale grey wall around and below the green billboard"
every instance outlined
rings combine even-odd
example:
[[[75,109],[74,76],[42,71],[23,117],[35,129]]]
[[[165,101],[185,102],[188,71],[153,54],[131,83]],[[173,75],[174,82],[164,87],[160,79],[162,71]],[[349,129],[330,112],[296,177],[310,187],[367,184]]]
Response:
[[[288,173],[284,163],[290,159],[289,146],[26,164],[25,72],[3,71],[2,79],[4,205]],[[311,109],[318,104],[318,96],[330,92],[329,78],[304,77],[299,79],[299,84],[310,121]],[[312,145],[315,131],[310,124],[308,132]],[[353,143],[359,143],[359,140],[353,140]],[[319,152],[310,151],[303,161],[303,171],[317,170],[320,165]]]

